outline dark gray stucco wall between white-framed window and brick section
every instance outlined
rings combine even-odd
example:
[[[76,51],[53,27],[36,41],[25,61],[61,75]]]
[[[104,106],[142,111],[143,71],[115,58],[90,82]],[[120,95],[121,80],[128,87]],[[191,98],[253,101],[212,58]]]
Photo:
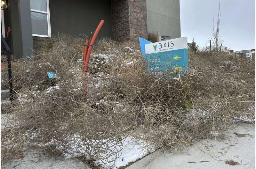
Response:
[[[68,33],[78,36],[80,33],[90,35],[100,20],[104,24],[98,38],[112,38],[111,2],[110,0],[49,0],[51,33]]]

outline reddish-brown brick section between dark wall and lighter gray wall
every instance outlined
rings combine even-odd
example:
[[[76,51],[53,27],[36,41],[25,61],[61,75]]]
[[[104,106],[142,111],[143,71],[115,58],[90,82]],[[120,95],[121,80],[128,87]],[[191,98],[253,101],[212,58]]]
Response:
[[[147,38],[146,0],[111,0],[113,39]]]

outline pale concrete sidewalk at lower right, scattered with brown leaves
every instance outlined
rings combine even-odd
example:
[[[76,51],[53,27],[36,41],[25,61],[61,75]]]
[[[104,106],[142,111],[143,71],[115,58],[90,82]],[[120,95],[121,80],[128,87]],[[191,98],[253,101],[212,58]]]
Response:
[[[242,137],[234,133],[245,134]],[[220,160],[220,161],[214,161]],[[226,164],[233,160],[240,165]],[[207,161],[207,162],[199,162]],[[211,161],[211,162],[208,162]],[[195,163],[190,163],[195,162]],[[255,125],[236,123],[225,133],[224,140],[197,140],[196,145],[181,152],[155,151],[130,165],[127,169],[177,169],[177,168],[255,168]]]

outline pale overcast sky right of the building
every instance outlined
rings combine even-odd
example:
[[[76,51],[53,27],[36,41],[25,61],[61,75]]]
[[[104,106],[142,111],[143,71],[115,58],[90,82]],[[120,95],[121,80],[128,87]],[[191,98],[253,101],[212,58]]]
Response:
[[[181,37],[203,47],[212,38],[212,19],[219,0],[180,0]],[[222,46],[238,51],[255,48],[255,0],[220,0]]]

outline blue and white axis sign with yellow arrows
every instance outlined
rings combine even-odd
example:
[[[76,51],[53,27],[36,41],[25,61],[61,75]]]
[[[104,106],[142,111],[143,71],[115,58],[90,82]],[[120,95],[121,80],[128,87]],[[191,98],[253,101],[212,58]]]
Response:
[[[188,40],[186,37],[150,43],[139,38],[147,73],[154,75],[168,70],[188,70]],[[145,48],[143,48],[145,45]]]

